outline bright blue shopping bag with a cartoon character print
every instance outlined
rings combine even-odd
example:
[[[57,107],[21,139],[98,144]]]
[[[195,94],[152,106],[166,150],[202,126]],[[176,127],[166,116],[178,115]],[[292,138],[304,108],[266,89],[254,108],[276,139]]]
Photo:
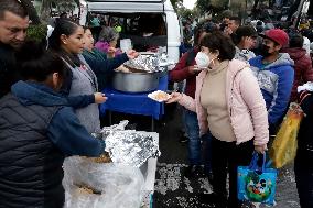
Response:
[[[257,164],[258,158],[258,153],[255,152],[249,166],[238,167],[238,199],[273,205],[277,169],[266,167],[266,154],[263,154],[261,166]]]

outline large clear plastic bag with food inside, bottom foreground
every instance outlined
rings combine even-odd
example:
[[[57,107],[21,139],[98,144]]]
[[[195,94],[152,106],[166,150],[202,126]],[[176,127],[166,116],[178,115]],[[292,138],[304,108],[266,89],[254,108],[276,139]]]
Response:
[[[64,208],[140,207],[144,180],[139,168],[78,156],[67,157],[63,166]]]

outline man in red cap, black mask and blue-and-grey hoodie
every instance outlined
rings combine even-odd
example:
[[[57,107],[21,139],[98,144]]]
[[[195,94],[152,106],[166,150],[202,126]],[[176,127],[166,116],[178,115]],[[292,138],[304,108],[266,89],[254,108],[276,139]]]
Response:
[[[289,105],[294,62],[289,54],[280,53],[289,43],[289,36],[283,30],[271,29],[260,36],[263,37],[261,55],[251,58],[249,63],[258,78],[268,109],[270,133],[273,135]]]

